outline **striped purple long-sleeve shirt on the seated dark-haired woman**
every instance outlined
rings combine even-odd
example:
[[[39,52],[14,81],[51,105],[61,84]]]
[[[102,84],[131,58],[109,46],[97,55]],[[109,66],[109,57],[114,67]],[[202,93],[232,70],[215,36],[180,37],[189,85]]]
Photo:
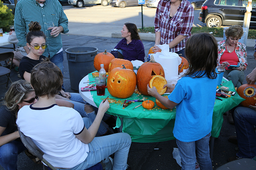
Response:
[[[126,39],[122,39],[115,47],[116,49],[123,50],[123,56],[125,60],[140,60],[145,62],[145,50],[142,41],[132,40],[127,44]]]

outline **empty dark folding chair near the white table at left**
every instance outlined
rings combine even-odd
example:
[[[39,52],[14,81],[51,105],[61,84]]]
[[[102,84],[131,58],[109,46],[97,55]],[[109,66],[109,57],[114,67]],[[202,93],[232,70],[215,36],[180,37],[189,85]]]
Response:
[[[10,79],[10,74],[11,74],[11,69],[12,69],[13,55],[14,55],[14,53],[12,51],[0,53],[0,62],[6,61],[6,60],[11,58],[10,69],[7,69],[7,68],[3,67],[2,64],[0,63],[0,76],[5,76],[5,75],[7,76],[7,82],[5,82],[6,83],[6,87],[5,88],[8,87],[9,80],[12,83],[12,80]],[[2,83],[0,85],[3,85],[5,83]]]

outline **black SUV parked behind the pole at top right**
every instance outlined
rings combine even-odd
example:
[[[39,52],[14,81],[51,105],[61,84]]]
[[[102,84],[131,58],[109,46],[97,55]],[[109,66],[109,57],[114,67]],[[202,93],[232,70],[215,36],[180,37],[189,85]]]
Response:
[[[201,7],[199,21],[207,27],[243,25],[248,0],[206,0]],[[250,26],[256,26],[256,0],[252,0]]]

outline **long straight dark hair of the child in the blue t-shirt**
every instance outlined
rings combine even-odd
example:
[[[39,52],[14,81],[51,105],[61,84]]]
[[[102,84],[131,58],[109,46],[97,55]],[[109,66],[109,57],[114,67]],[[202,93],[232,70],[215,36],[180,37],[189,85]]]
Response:
[[[201,78],[206,74],[208,78],[217,78],[215,68],[217,67],[218,46],[211,34],[193,34],[186,43],[185,53],[189,68],[184,76]]]

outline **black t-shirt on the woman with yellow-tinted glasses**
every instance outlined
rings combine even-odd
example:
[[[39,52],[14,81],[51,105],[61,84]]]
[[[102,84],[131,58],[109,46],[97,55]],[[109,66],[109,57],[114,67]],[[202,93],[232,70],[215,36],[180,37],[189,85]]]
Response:
[[[43,55],[41,55],[39,57],[39,60],[33,60],[31,58],[28,58],[27,56],[24,56],[21,60],[20,60],[20,66],[19,66],[19,73],[20,73],[20,77],[24,80],[23,74],[25,73],[25,71],[27,71],[28,73],[31,73],[33,67],[36,64],[41,63],[42,59],[45,58]]]

